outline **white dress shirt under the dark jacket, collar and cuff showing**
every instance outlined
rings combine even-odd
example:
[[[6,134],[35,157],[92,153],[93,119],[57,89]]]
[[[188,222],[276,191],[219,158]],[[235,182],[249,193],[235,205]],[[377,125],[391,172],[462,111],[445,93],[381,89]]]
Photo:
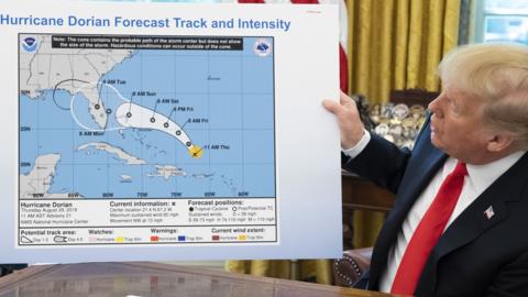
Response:
[[[343,150],[343,153],[351,157],[358,156],[365,148],[370,139],[371,135],[365,131],[363,139],[354,147],[350,150]],[[462,213],[462,211],[464,211],[464,209],[471,205],[471,202],[473,202],[501,175],[509,169],[509,167],[512,167],[525,153],[525,151],[516,152],[485,165],[468,164],[468,176],[464,179],[462,193],[460,194],[457,206],[454,207],[453,213],[451,213],[451,217],[449,218],[446,229],[449,228],[454,219],[457,219],[460,213]],[[405,249],[413,237],[413,233],[418,227],[418,223],[426,213],[427,209],[432,204],[432,200],[435,199],[435,196],[437,195],[443,179],[457,166],[457,162],[458,161],[455,158],[449,157],[413,205],[407,218],[404,221],[404,224],[402,226],[402,230],[398,233],[396,244],[389,251],[387,268],[382,273],[380,279],[381,292],[391,292],[394,277],[398,270],[402,257],[404,256]]]

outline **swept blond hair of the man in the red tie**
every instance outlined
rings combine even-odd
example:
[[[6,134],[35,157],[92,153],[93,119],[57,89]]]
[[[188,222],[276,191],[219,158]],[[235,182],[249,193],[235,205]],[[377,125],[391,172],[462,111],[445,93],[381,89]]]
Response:
[[[484,100],[485,121],[528,150],[528,46],[465,45],[446,55],[438,74],[446,86]]]

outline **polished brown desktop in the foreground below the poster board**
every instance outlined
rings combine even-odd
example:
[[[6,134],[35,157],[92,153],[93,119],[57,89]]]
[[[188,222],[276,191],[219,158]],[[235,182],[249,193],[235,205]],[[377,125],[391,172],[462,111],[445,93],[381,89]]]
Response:
[[[30,266],[0,278],[1,297],[299,296],[387,294],[150,262]]]

